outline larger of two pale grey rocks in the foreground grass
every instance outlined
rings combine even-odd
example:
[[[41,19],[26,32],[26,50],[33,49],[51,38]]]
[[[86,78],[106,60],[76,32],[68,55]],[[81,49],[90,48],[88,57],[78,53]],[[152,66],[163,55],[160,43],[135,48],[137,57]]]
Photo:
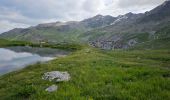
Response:
[[[68,72],[60,72],[60,71],[52,71],[44,73],[42,79],[55,81],[55,82],[62,82],[62,81],[69,81],[70,74]]]

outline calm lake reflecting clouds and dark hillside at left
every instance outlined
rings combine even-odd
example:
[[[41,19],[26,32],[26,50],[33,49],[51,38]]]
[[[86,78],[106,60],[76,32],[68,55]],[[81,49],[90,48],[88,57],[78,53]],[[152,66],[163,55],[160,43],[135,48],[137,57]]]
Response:
[[[0,48],[0,75],[22,69],[30,64],[46,62],[68,54],[69,52],[50,48]]]

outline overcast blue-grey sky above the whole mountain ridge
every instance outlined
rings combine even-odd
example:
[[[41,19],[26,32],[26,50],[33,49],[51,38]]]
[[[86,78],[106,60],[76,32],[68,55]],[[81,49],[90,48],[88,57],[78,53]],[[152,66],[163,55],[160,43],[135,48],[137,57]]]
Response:
[[[39,23],[82,20],[97,14],[143,13],[165,0],[0,0],[0,33]]]

